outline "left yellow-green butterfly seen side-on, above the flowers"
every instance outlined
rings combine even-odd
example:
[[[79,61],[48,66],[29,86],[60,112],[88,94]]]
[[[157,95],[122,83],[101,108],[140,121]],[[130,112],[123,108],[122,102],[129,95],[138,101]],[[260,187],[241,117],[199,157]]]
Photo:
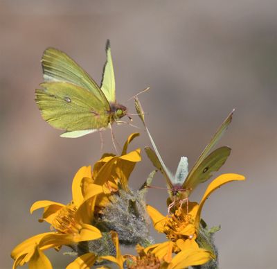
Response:
[[[116,103],[109,40],[106,53],[107,62],[99,87],[86,71],[62,51],[53,48],[44,51],[44,83],[40,84],[43,89],[35,90],[35,101],[45,121],[57,129],[65,130],[61,137],[82,137],[111,128],[111,123],[127,114],[127,108]]]

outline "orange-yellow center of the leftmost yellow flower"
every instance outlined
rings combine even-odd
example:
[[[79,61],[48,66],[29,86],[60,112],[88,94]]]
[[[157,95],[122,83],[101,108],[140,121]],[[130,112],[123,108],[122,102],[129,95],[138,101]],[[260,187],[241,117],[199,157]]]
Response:
[[[52,222],[52,227],[62,234],[78,233],[81,226],[75,220],[76,210],[77,208],[73,205],[73,202],[60,209]]]

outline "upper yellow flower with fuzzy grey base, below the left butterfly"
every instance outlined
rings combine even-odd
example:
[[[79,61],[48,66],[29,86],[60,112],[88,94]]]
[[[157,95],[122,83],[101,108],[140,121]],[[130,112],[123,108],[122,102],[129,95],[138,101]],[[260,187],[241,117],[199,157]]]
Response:
[[[125,245],[148,245],[152,242],[145,207],[147,189],[132,191],[128,186],[129,175],[136,162],[141,161],[141,150],[138,148],[127,153],[127,148],[138,135],[134,133],[128,137],[121,155],[103,155],[93,166],[92,178],[86,179],[87,186],[103,186],[103,193],[96,199],[93,224],[106,232],[116,231],[120,243]]]

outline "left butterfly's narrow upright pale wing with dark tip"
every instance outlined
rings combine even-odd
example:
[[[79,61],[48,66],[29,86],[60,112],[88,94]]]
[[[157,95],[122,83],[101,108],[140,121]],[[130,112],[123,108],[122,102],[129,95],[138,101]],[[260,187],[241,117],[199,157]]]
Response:
[[[114,67],[111,60],[111,48],[109,40],[106,45],[107,61],[102,74],[101,89],[107,100],[111,103],[116,103],[116,82],[114,79]]]

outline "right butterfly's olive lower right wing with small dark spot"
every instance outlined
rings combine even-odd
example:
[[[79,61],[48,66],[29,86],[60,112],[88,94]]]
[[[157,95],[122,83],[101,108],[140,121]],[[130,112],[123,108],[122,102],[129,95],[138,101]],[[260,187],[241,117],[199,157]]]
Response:
[[[226,162],[226,159],[231,153],[231,148],[222,146],[214,150],[208,157],[206,157],[194,173],[190,173],[183,184],[186,193],[191,193],[199,183],[206,182],[212,173],[218,171],[220,167]]]

